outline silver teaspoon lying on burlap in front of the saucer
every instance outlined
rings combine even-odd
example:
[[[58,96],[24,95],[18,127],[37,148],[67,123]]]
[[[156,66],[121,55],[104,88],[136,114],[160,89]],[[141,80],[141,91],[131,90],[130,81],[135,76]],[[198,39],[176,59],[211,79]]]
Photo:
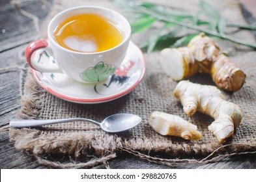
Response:
[[[10,120],[10,127],[33,127],[76,121],[94,123],[99,125],[101,129],[108,133],[119,133],[135,127],[135,125],[141,122],[141,118],[135,114],[121,113],[108,116],[102,122],[95,122],[94,120],[87,118],[67,118],[57,120]]]

